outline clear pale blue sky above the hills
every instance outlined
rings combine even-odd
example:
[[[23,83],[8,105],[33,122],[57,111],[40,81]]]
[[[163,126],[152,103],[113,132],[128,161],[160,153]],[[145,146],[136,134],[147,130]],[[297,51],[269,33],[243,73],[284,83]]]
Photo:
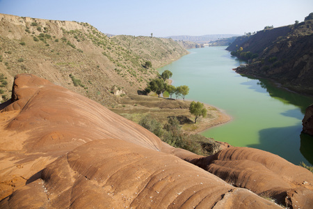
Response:
[[[0,0],[0,13],[88,22],[103,33],[157,37],[243,34],[303,22],[313,0]]]

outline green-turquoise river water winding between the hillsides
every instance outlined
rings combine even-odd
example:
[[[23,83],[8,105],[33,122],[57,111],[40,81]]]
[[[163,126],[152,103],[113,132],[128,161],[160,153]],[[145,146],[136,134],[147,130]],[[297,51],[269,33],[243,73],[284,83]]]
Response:
[[[275,87],[232,70],[240,61],[225,47],[190,49],[190,54],[159,72],[172,72],[172,85],[190,88],[187,100],[214,105],[232,116],[230,123],[202,132],[233,146],[259,148],[299,164],[313,164],[313,137],[300,134],[305,108],[313,98]]]

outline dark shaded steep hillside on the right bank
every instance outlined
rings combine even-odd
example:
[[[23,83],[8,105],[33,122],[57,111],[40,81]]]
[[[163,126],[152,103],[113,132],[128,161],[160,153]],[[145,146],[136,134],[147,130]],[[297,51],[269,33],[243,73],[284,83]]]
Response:
[[[236,72],[313,94],[313,20],[237,38],[227,50],[250,63]]]

